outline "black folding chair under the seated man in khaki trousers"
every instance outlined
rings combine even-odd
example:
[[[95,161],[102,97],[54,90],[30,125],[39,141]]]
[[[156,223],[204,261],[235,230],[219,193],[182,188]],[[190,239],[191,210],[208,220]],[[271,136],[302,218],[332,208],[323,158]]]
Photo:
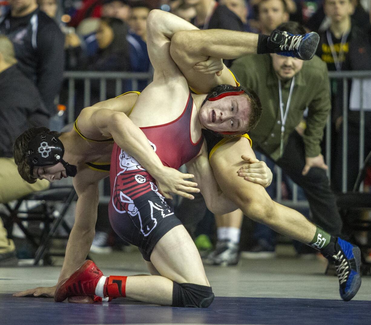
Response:
[[[5,217],[4,226],[6,229],[12,229],[14,223],[19,226],[27,241],[36,249],[34,265],[37,265],[41,259],[43,259],[44,264],[50,264],[49,256],[64,256],[64,254],[50,252],[51,239],[68,238],[71,229],[64,218],[70,204],[76,198],[75,189],[68,185],[52,187],[23,196],[17,200],[14,207],[9,203],[5,204],[9,216]],[[39,201],[41,204],[32,209],[24,208],[22,203],[29,200]],[[24,227],[23,221],[42,223],[42,232],[39,234],[31,232]],[[56,235],[59,225],[65,229],[66,236]]]

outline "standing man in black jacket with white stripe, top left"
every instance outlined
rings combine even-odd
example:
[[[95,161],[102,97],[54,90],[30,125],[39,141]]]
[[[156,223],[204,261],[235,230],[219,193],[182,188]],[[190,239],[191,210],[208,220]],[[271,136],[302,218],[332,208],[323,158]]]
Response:
[[[0,34],[13,43],[18,67],[33,81],[50,115],[63,80],[64,35],[36,0],[9,0],[10,10],[0,18]]]

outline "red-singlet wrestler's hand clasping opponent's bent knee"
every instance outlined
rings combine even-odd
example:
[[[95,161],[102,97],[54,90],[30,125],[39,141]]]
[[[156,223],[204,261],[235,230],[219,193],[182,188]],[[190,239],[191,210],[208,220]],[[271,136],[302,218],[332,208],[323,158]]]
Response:
[[[242,155],[241,158],[248,162],[237,170],[238,176],[243,177],[249,182],[263,185],[265,188],[272,182],[272,171],[268,168],[267,164],[259,159]]]

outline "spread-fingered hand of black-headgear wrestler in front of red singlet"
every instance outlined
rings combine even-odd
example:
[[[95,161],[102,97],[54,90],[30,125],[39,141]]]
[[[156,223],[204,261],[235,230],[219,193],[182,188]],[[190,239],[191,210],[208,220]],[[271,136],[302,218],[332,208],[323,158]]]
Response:
[[[164,166],[162,173],[157,175],[155,180],[158,190],[166,199],[173,199],[170,193],[174,193],[192,200],[194,196],[189,193],[199,193],[200,190],[196,188],[197,183],[186,180],[190,178],[194,178],[194,175]]]

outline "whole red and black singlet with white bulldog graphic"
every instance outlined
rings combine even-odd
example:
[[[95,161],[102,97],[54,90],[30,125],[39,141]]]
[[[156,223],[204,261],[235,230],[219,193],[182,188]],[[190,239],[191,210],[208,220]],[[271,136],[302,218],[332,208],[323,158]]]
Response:
[[[183,113],[176,120],[141,127],[163,165],[178,169],[200,152],[203,137],[196,143],[191,140],[192,110],[190,93]],[[111,156],[110,181],[112,227],[122,239],[138,246],[149,261],[158,240],[181,222],[158,192],[154,178],[116,144]]]

